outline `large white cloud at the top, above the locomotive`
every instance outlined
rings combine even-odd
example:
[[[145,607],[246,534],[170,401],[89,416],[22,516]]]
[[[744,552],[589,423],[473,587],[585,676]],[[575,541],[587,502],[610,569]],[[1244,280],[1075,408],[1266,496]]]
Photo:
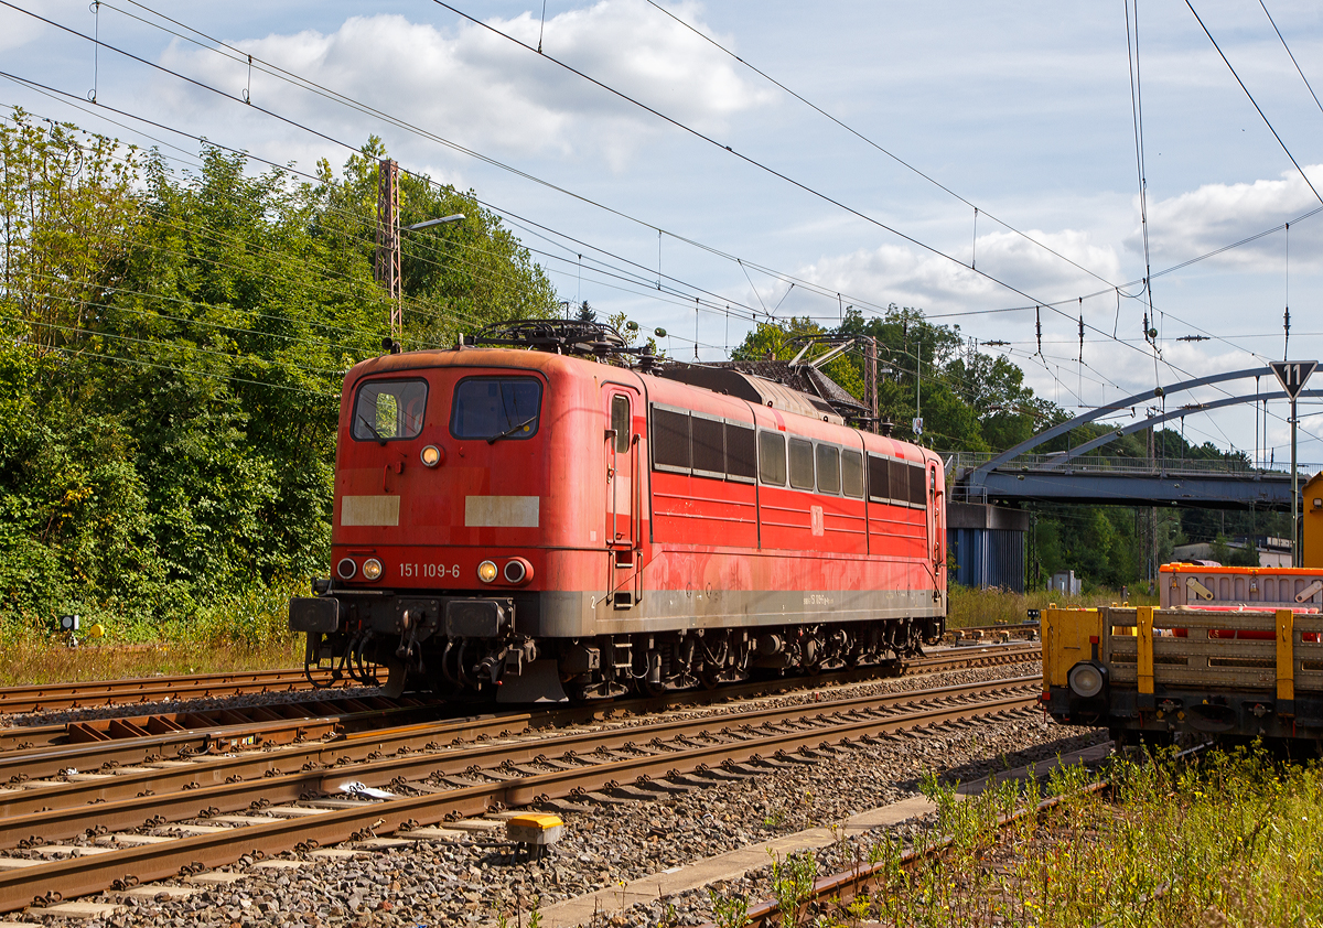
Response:
[[[693,19],[693,11],[687,12]],[[540,22],[531,13],[487,22],[529,45],[538,42]],[[495,155],[601,153],[619,169],[650,136],[664,131],[655,116],[472,24],[439,29],[402,16],[356,16],[333,33],[271,34],[234,45],[423,130]],[[546,20],[542,48],[548,56],[704,131],[720,131],[730,116],[771,99],[701,38],[624,0],[602,0]],[[167,66],[229,93],[238,94],[247,85],[246,62],[181,44],[163,58]],[[257,71],[253,98],[319,127],[331,120],[351,132],[352,140],[361,140],[366,127],[382,134],[392,148],[413,144],[406,134]],[[181,108],[192,103],[192,97],[176,100]]]

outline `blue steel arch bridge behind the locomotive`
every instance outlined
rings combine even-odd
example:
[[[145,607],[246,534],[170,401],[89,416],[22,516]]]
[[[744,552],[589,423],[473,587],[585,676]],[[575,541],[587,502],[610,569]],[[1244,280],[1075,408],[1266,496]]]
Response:
[[[1289,467],[1257,468],[1230,455],[1222,460],[1176,460],[1101,453],[1105,445],[1125,435],[1187,415],[1287,401],[1285,390],[1234,395],[1234,390],[1222,389],[1226,394],[1222,398],[1136,418],[1069,451],[1035,453],[1036,448],[1080,426],[1123,410],[1143,408],[1156,399],[1197,387],[1250,378],[1277,382],[1273,369],[1266,366],[1199,377],[1098,407],[1002,453],[953,453],[946,463],[947,473],[954,476],[947,506],[947,546],[957,562],[951,579],[974,587],[1024,590],[1029,513],[1023,506],[1027,502],[1289,510]],[[1323,397],[1323,390],[1304,390],[1299,397]]]

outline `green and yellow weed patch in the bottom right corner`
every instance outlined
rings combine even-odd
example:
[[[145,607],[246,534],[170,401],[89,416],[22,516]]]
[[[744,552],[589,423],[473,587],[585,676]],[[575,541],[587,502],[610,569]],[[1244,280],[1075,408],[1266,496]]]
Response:
[[[904,867],[901,845],[856,849],[880,862],[867,906],[827,907],[822,924],[1221,925],[1323,924],[1323,771],[1254,750],[1197,764],[1118,761],[1110,794],[1060,768],[1041,787],[1005,784],[958,800],[929,779],[942,855]],[[999,817],[1062,796],[1049,812]],[[789,923],[787,923],[789,924]]]

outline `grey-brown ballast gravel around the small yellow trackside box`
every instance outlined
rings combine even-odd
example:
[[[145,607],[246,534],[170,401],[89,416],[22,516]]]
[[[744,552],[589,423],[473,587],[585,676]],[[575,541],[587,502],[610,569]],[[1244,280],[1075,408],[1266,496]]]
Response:
[[[1036,672],[1037,664],[1025,664],[901,677],[833,689],[831,697]],[[815,701],[811,694],[775,699]],[[495,842],[483,846],[418,841],[335,859],[291,853],[284,857],[302,862],[296,870],[251,867],[251,861],[242,861],[225,869],[234,872],[233,883],[205,884],[187,898],[175,899],[168,895],[169,887],[160,886],[155,898],[123,899],[127,906],[123,912],[85,924],[413,928],[496,925],[505,920],[509,928],[516,928],[527,923],[534,908],[623,886],[713,854],[757,846],[774,837],[830,826],[853,813],[913,796],[927,773],[970,781],[1105,739],[1103,731],[1049,724],[1037,710],[1021,710],[995,719],[890,735],[824,755],[811,764],[790,763],[687,793],[662,793],[656,800],[558,805],[566,825],[565,838],[541,861],[520,858],[512,863],[508,847],[493,846]],[[925,826],[918,820],[893,830],[905,834]],[[824,858],[820,872],[828,869],[830,861]],[[766,878],[767,874],[755,871],[741,886],[716,888],[757,898]],[[107,894],[102,899],[115,902],[120,896]],[[41,911],[30,909],[22,917],[40,920]],[[595,928],[626,928],[663,920],[699,924],[709,917],[709,896],[700,890],[659,899],[652,906],[602,911],[593,921]],[[50,916],[46,920],[53,921]]]

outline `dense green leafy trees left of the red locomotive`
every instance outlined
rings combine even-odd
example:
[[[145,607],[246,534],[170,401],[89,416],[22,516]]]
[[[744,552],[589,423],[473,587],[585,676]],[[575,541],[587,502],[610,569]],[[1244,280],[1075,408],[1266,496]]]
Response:
[[[204,148],[176,174],[0,126],[0,616],[160,621],[325,570],[345,370],[380,353],[376,155],[319,181]],[[554,308],[475,197],[406,176],[406,341]],[[413,312],[410,312],[410,309]]]

